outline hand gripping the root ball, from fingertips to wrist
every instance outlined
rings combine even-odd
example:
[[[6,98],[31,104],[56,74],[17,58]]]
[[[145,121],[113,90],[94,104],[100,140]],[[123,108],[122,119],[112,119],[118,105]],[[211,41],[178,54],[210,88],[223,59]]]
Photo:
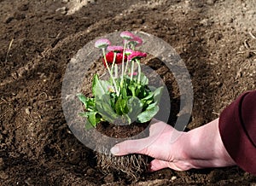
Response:
[[[153,119],[149,128],[149,137],[120,142],[111,148],[114,155],[146,154],[154,158],[149,165],[149,171],[157,171],[170,167],[177,171],[188,170],[190,167],[184,163],[182,148],[179,139],[182,131],[177,131],[171,125]]]

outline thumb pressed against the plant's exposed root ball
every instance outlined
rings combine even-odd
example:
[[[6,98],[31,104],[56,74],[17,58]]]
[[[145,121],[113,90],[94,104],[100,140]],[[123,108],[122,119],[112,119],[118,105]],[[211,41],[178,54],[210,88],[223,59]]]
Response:
[[[147,152],[148,138],[138,140],[127,140],[125,142],[119,142],[110,152],[113,155],[125,155],[125,154],[146,154]]]

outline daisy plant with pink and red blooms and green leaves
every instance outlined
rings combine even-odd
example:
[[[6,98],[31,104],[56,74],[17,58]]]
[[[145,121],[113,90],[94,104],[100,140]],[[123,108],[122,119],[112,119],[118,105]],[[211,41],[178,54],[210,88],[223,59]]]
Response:
[[[141,59],[147,54],[136,50],[143,39],[127,31],[121,32],[120,37],[123,46],[111,45],[107,38],[95,43],[96,48],[102,49],[102,61],[109,78],[102,80],[95,74],[93,97],[77,95],[85,107],[80,115],[87,118],[86,129],[102,121],[118,125],[130,125],[135,121],[145,123],[159,111],[163,87],[148,85],[148,78],[141,70]]]

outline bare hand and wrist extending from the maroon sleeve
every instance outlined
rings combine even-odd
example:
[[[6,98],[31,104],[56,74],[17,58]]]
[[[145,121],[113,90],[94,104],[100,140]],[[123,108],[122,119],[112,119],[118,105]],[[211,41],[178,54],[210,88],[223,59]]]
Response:
[[[114,155],[146,154],[154,158],[149,171],[171,168],[186,171],[191,168],[235,166],[224,148],[218,131],[218,119],[207,125],[183,132],[155,120],[149,137],[120,142],[111,148]]]

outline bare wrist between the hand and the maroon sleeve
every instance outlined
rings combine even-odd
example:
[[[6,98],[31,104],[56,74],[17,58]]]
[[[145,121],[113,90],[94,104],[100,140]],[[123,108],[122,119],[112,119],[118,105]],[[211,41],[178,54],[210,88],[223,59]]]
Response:
[[[179,145],[183,147],[182,157],[188,169],[236,165],[224,148],[218,131],[218,119],[185,132],[182,138]]]

